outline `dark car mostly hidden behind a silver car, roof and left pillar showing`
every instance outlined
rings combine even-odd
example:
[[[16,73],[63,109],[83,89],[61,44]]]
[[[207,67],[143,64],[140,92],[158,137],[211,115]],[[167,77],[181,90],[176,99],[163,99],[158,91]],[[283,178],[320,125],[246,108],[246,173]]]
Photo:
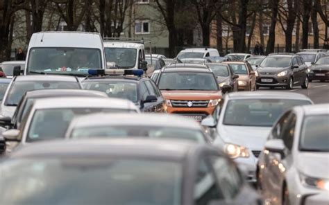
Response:
[[[42,89],[36,91],[27,91],[19,101],[15,113],[12,116],[12,127],[17,129],[22,123],[28,108],[33,101],[40,98],[60,98],[60,97],[104,97],[108,98],[106,93],[100,91],[86,91],[82,89]]]

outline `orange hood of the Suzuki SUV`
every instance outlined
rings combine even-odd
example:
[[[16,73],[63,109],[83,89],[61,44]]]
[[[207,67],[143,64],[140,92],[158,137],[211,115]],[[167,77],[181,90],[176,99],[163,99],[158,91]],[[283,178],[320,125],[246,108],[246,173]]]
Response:
[[[221,91],[161,91],[167,100],[211,100],[221,98]]]

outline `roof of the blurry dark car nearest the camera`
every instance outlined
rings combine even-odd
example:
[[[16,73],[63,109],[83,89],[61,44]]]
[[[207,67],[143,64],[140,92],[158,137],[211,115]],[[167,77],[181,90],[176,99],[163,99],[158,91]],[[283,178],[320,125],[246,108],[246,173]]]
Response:
[[[78,139],[31,143],[10,154],[10,158],[29,157],[146,157],[183,159],[192,150],[209,148],[189,141],[167,139]]]

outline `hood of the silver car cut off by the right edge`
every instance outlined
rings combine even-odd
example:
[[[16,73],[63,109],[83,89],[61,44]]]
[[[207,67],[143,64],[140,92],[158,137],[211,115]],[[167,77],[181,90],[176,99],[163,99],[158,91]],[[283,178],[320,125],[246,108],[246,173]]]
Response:
[[[297,168],[308,177],[328,179],[329,152],[298,152]]]

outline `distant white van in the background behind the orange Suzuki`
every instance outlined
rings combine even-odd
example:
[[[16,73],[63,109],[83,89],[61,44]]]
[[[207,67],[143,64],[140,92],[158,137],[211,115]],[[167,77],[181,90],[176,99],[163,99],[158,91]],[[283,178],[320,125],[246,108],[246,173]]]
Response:
[[[178,59],[184,58],[203,58],[219,56],[216,48],[186,48],[177,55]]]

